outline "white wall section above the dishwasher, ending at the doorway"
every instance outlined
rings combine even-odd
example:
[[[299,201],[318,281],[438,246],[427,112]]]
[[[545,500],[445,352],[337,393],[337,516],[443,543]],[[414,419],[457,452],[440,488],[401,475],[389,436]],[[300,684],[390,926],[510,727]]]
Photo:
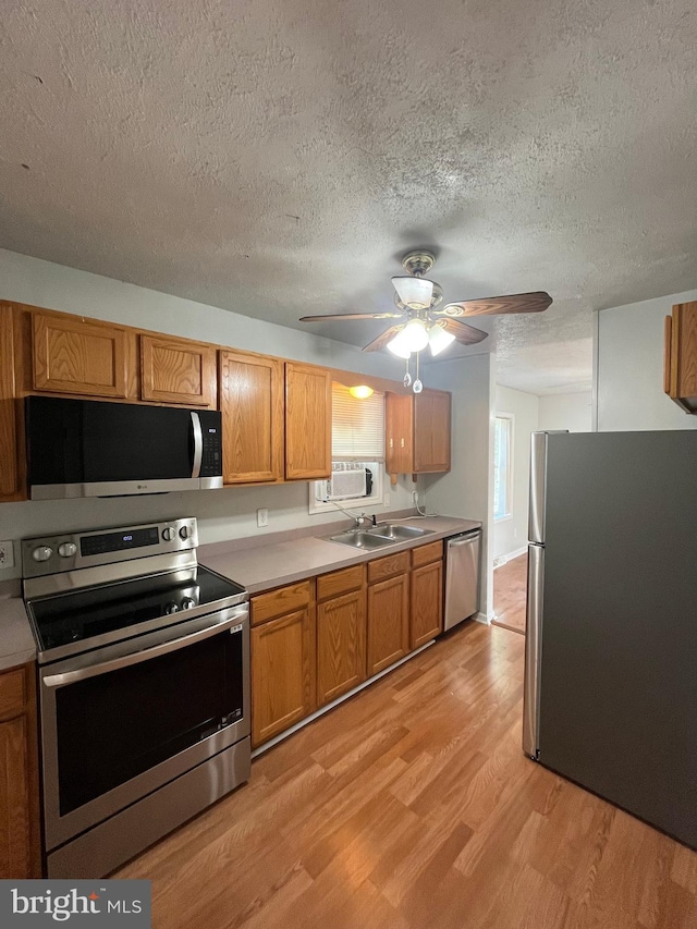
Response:
[[[488,619],[493,614],[493,481],[489,462],[493,444],[494,369],[496,357],[489,354],[429,365],[427,387],[450,390],[453,394],[452,469],[442,475],[424,475],[418,481],[429,513],[484,523],[479,609]]]

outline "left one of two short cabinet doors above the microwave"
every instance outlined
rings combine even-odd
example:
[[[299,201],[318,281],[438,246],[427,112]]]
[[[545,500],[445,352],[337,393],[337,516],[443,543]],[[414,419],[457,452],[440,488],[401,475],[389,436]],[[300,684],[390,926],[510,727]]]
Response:
[[[117,326],[35,313],[35,390],[126,396],[126,333]]]

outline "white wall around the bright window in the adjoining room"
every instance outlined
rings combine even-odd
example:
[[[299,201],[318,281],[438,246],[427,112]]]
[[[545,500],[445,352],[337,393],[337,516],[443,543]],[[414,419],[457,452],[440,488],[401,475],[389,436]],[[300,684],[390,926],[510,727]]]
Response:
[[[538,428],[539,405],[542,399],[497,384],[497,415],[513,415],[513,505],[510,518],[493,524],[493,558],[511,555],[527,546],[530,432]]]

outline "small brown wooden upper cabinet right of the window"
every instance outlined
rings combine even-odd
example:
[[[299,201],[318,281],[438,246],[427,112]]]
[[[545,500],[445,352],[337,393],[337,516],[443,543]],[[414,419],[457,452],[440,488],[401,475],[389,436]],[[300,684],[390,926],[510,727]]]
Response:
[[[389,474],[450,470],[450,401],[442,390],[386,395]]]

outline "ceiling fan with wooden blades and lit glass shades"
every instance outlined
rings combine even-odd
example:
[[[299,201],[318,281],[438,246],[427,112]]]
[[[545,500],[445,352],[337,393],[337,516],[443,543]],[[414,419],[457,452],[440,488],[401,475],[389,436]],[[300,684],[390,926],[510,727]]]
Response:
[[[326,319],[395,319],[377,339],[363,350],[377,352],[389,349],[393,354],[406,359],[407,370],[404,386],[412,384],[408,363],[416,355],[416,379],[413,382],[415,393],[423,384],[418,378],[418,353],[426,346],[431,355],[438,355],[452,342],[462,345],[475,345],[482,342],[488,333],[463,321],[463,317],[494,316],[512,313],[541,313],[552,303],[545,291],[527,294],[508,294],[505,296],[485,297],[482,300],[443,301],[443,289],[436,281],[429,281],[427,274],[433,267],[436,256],[423,249],[408,252],[402,258],[405,276],[392,278],[394,284],[394,313],[339,313],[323,316],[303,316],[301,322],[317,322]]]

